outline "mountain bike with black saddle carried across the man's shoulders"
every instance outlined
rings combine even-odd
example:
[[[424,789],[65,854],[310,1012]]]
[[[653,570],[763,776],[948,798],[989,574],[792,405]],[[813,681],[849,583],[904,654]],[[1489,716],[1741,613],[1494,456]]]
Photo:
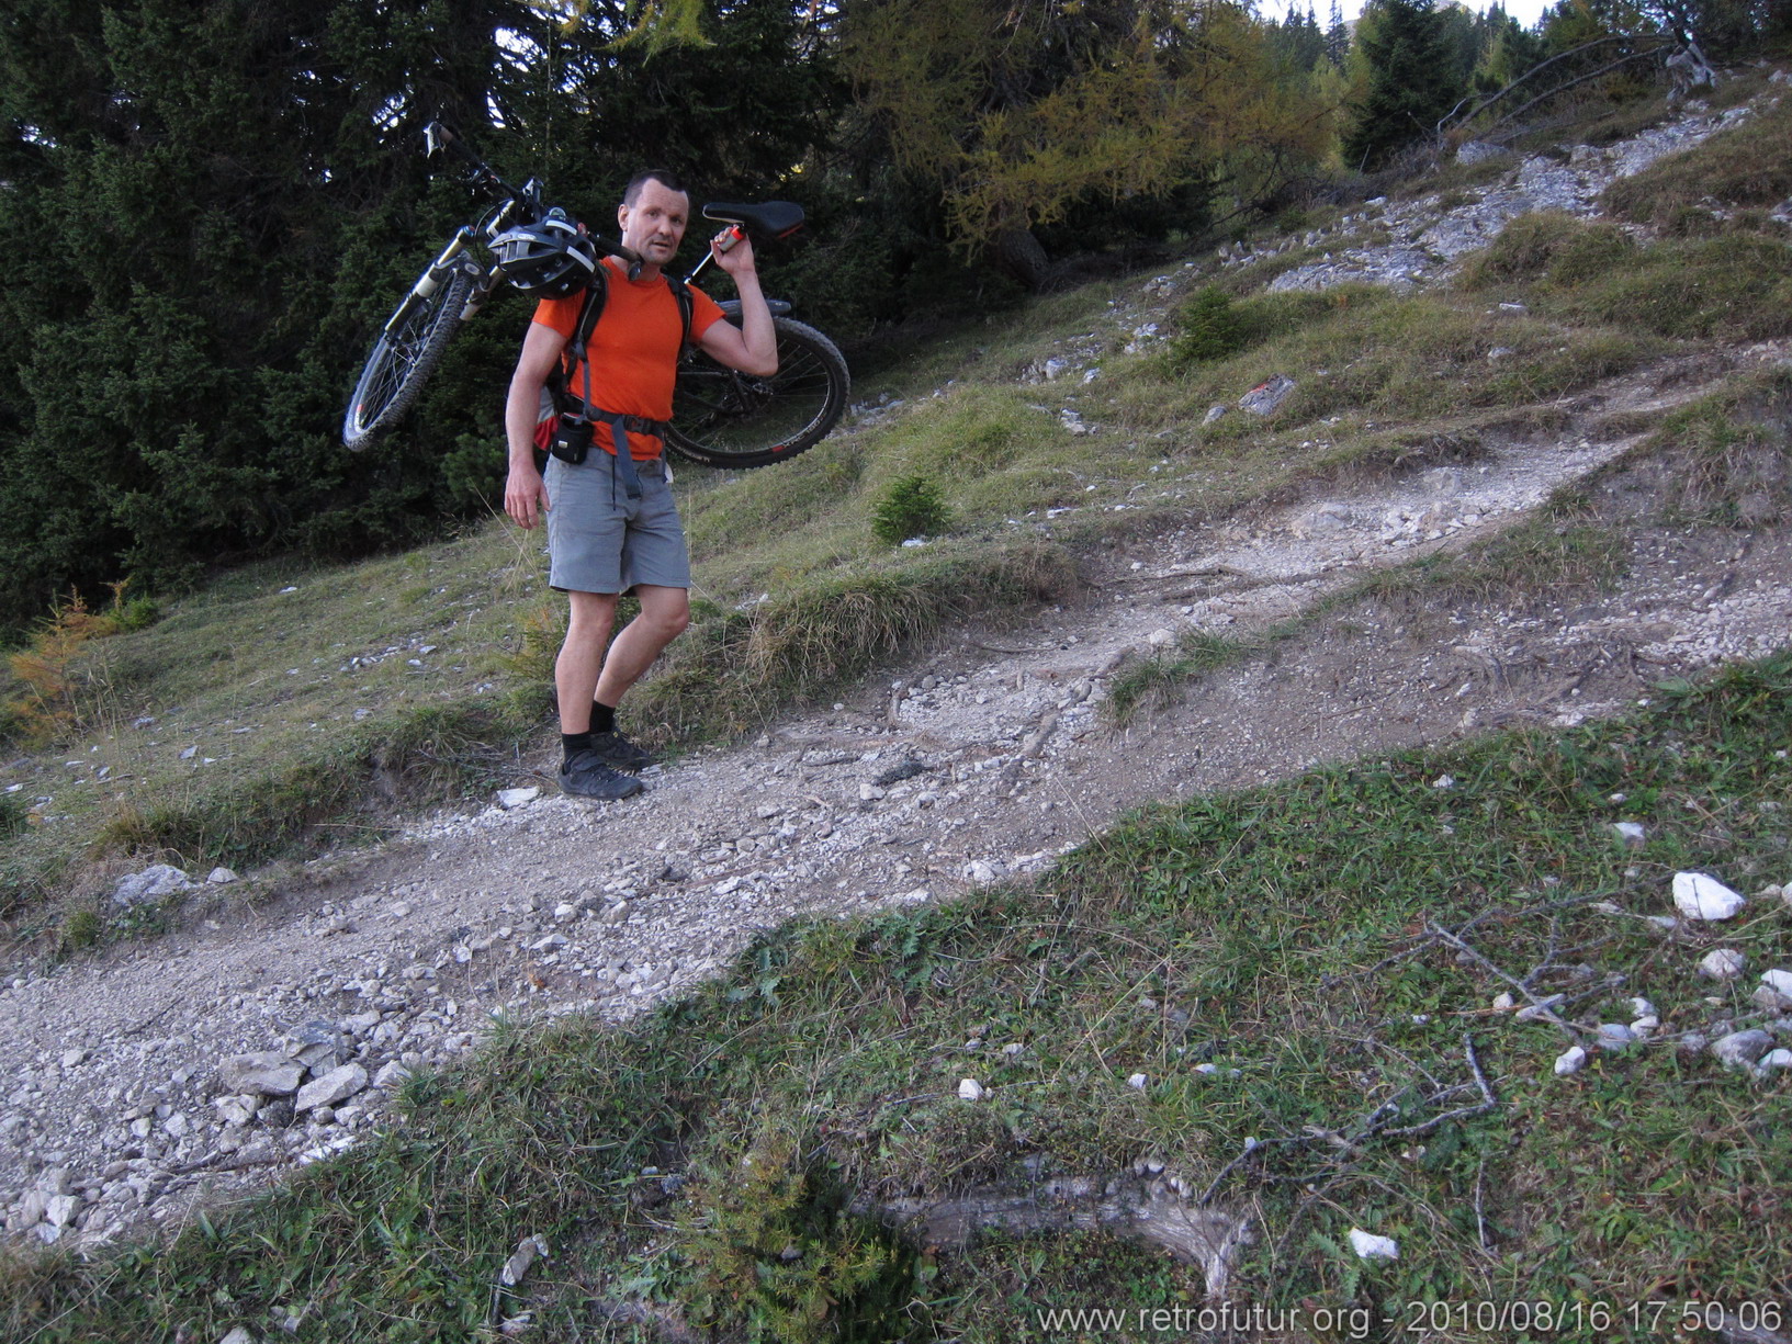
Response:
[[[491,246],[523,224],[566,219],[541,201],[541,183],[511,186],[448,127],[430,122],[428,152],[448,149],[470,168],[468,181],[496,197],[475,224],[462,224],[387,319],[342,418],[342,443],[366,448],[392,428],[423,392],[453,333],[491,297],[504,280]],[[754,238],[787,238],[803,228],[803,208],[788,201],[708,204],[704,219],[744,229]],[[599,253],[631,254],[622,244],[586,235]],[[685,278],[708,265],[710,253]],[[819,443],[846,410],[846,360],[828,337],[788,317],[790,305],[767,301],[778,333],[778,373],[758,378],[729,369],[695,344],[679,358],[667,448],[692,462],[749,468],[781,462]],[[722,303],[738,317],[738,301]]]

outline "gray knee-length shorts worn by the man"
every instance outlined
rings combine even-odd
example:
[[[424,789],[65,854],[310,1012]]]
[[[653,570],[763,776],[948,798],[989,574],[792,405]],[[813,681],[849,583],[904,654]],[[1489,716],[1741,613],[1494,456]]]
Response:
[[[615,453],[597,444],[579,466],[548,459],[548,586],[563,593],[690,588],[690,550],[665,459],[634,464],[638,500],[629,498],[615,468]]]

